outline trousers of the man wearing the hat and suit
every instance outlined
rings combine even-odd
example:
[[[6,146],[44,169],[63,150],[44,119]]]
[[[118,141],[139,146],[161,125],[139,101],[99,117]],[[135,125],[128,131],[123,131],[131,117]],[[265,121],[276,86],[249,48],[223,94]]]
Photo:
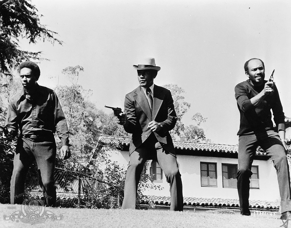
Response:
[[[123,209],[135,209],[136,191],[143,171],[143,166],[149,158],[157,158],[167,182],[170,184],[171,211],[183,211],[182,180],[177,159],[163,149],[154,134],[139,148],[131,153],[129,166],[125,177]]]

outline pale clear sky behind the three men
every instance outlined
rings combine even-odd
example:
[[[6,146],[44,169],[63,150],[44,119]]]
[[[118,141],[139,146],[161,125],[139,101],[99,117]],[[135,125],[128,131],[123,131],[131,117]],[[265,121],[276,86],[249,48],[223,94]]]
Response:
[[[23,48],[42,51],[39,84],[70,85],[61,74],[80,65],[79,82],[91,89],[97,108],[121,107],[139,83],[132,65],[152,56],[161,67],[154,83],[177,84],[191,108],[184,123],[200,112],[206,137],[237,144],[239,111],[234,87],[247,79],[244,63],[265,62],[266,78],[275,69],[285,116],[291,117],[290,1],[93,1],[32,0],[41,23],[58,33],[63,45],[49,42]]]

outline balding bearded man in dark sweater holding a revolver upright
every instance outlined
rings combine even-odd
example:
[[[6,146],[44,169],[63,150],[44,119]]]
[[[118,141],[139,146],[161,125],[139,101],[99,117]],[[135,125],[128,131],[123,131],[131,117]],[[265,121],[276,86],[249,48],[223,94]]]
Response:
[[[290,219],[290,175],[286,157],[285,116],[276,85],[266,81],[265,65],[260,59],[244,64],[245,82],[235,86],[240,112],[237,190],[242,215],[250,215],[249,191],[251,166],[258,146],[273,160],[281,196],[281,218]],[[271,110],[277,130],[273,127]]]

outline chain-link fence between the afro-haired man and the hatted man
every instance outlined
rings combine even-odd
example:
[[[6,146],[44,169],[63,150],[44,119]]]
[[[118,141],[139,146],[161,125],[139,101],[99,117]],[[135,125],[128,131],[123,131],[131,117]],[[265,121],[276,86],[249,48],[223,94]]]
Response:
[[[100,176],[96,174],[56,167],[54,178],[57,206],[89,208],[114,208],[121,206],[123,188],[102,181]],[[29,194],[44,200],[40,188],[30,191]]]

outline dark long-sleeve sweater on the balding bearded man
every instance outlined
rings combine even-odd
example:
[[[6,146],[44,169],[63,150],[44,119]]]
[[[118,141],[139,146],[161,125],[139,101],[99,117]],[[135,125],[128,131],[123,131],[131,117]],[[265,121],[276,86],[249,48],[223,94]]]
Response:
[[[267,95],[258,106],[254,106],[251,103],[250,99],[264,89],[266,82],[264,81],[261,86],[253,86],[248,79],[235,86],[235,98],[237,99],[237,107],[240,112],[240,125],[237,135],[272,130],[274,127],[271,109],[276,125],[285,123],[283,107],[276,85],[274,85],[273,95]]]

